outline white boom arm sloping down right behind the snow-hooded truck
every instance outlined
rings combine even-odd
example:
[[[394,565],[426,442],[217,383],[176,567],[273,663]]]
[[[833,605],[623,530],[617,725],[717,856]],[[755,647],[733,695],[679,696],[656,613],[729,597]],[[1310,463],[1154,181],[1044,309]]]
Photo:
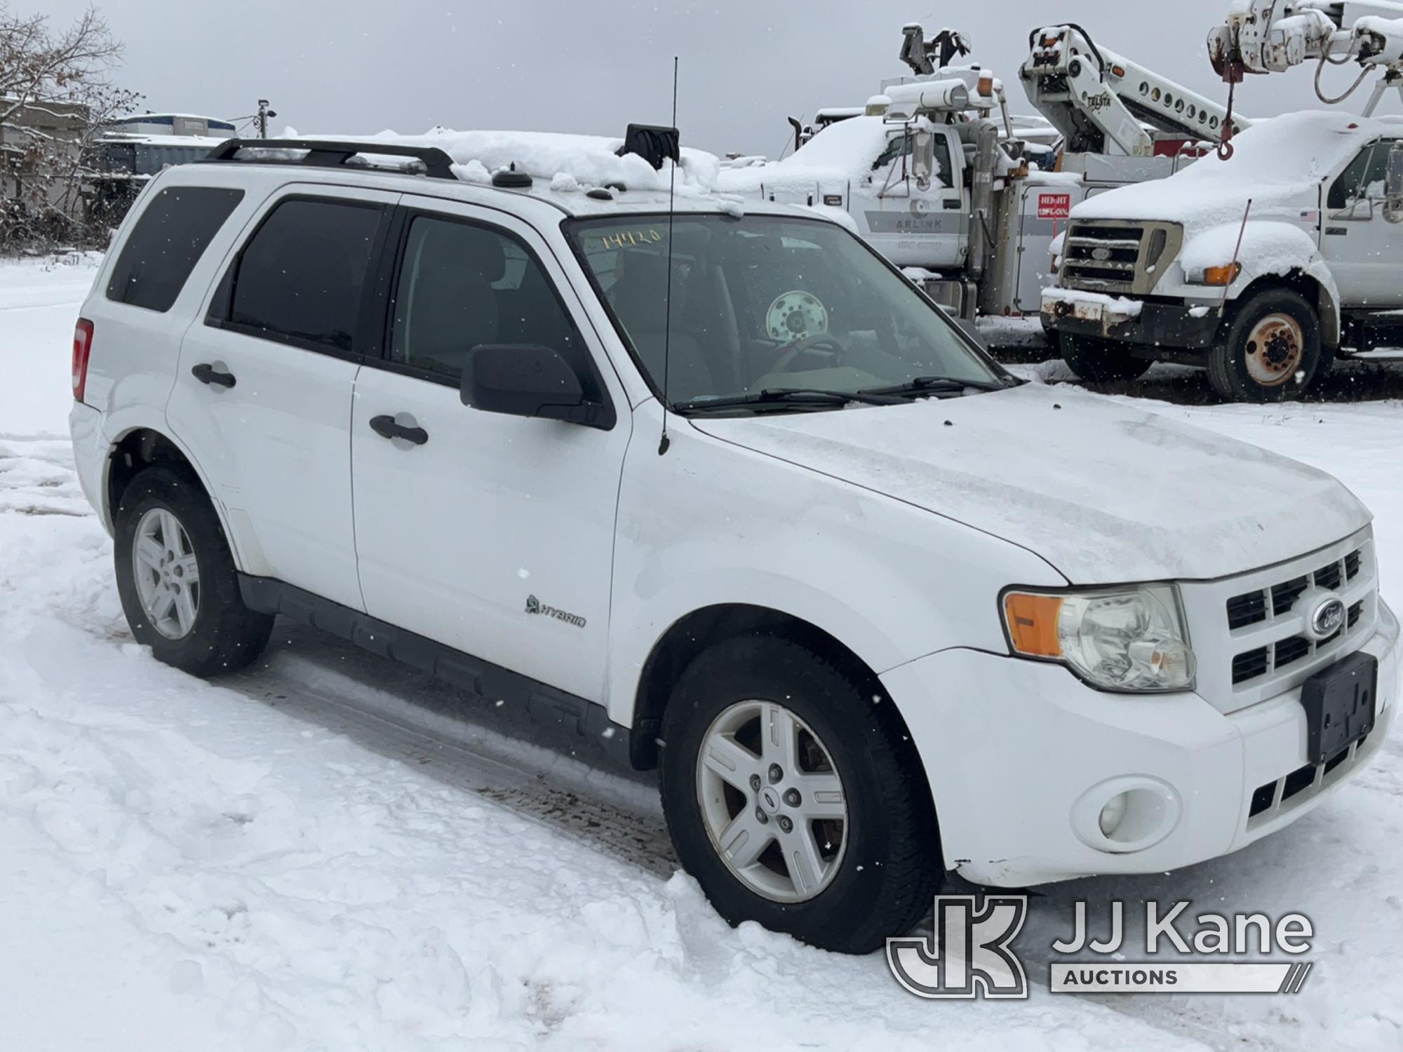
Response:
[[[1155,135],[1221,142],[1228,111],[1148,66],[1099,48],[1079,25],[1037,29],[1019,70],[1028,100],[1066,139],[1072,153],[1149,157]],[[1233,118],[1237,130],[1250,122]]]

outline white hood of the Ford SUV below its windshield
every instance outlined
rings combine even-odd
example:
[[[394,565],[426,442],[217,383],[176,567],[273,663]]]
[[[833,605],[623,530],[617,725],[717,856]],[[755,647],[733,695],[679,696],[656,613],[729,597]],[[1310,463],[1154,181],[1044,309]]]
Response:
[[[1371,519],[1323,471],[1065,387],[692,424],[1019,544],[1078,585],[1242,574]]]

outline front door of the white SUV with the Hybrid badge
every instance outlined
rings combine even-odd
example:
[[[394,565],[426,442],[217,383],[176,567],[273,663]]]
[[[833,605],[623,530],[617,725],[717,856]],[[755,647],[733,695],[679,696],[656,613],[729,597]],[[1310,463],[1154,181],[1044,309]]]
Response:
[[[546,241],[487,208],[404,199],[383,360],[356,380],[355,527],[366,610],[603,700],[615,512],[630,417]],[[607,431],[463,405],[470,348],[572,360]],[[410,438],[386,438],[383,418]]]

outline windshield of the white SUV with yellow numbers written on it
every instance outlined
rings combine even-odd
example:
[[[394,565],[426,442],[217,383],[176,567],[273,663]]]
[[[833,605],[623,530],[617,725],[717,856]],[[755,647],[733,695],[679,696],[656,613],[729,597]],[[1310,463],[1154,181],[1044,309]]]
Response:
[[[664,391],[668,217],[565,229],[620,335]],[[1012,383],[861,241],[819,220],[676,216],[671,330],[664,394],[679,408],[749,397],[752,407],[784,411],[804,408],[803,394],[842,405],[835,394],[908,389],[916,397]],[[763,397],[781,391],[794,397]]]

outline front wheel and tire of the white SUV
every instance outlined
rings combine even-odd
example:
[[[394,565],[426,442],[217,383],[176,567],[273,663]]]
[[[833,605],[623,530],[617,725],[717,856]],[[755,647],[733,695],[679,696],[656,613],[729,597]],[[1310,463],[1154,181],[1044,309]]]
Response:
[[[911,930],[944,879],[925,769],[891,701],[770,634],[696,658],[662,720],[683,868],[731,924],[843,954]]]

